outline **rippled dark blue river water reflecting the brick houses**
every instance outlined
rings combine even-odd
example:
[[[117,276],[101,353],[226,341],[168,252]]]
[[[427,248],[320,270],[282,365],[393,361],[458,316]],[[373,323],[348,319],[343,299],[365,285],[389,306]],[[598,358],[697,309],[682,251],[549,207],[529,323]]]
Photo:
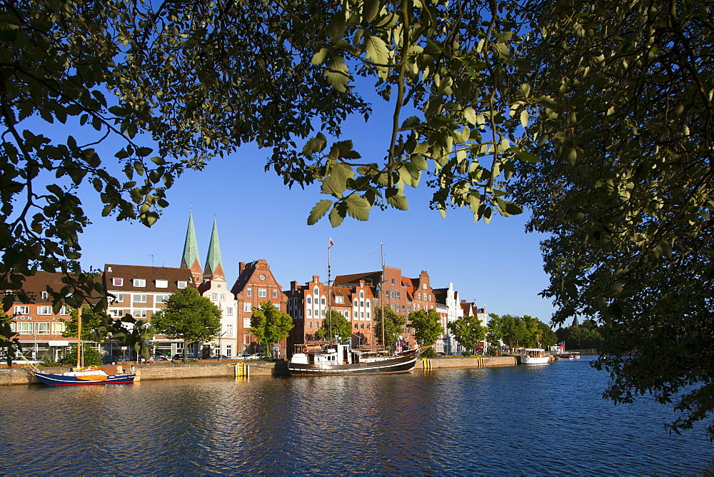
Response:
[[[0,388],[0,473],[685,474],[670,408],[613,406],[587,357],[375,376]]]

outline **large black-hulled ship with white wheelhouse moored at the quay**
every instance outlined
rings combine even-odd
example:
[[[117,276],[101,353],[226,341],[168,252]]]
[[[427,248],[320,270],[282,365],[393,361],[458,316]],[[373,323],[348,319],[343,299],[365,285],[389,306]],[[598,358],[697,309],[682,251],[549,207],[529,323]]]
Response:
[[[363,352],[349,344],[309,343],[296,346],[288,363],[291,376],[336,376],[346,374],[406,373],[426,348],[411,349],[396,355]]]

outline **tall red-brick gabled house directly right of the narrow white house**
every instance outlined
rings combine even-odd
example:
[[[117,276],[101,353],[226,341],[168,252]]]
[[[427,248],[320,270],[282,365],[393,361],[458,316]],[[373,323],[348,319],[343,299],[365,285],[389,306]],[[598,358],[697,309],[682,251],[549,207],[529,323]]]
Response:
[[[260,303],[269,301],[281,311],[286,311],[288,298],[283,293],[280,283],[273,276],[273,272],[268,262],[261,258],[251,263],[241,262],[238,266],[238,278],[233,283],[231,293],[236,297],[238,303],[238,326],[237,339],[238,348],[243,354],[258,352],[260,344],[253,339],[253,335],[248,331],[251,327],[251,316],[253,309]],[[267,353],[277,351],[279,356],[286,356],[286,340],[276,343],[273,350],[265,350]],[[275,350],[275,348],[278,350]]]

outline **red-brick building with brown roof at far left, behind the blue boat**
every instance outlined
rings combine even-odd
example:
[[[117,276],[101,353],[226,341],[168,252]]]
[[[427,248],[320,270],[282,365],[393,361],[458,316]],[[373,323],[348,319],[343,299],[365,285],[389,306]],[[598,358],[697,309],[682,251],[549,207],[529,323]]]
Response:
[[[58,313],[52,309],[52,295],[60,291],[64,273],[38,271],[28,276],[22,287],[24,298],[29,303],[19,299],[20,290],[3,290],[5,296],[14,296],[14,303],[9,309],[11,316],[11,331],[17,333],[25,356],[38,360],[49,359],[59,361],[69,351],[71,344],[77,343],[77,338],[65,338],[64,323],[60,320],[69,319],[69,307],[62,306]],[[99,298],[99,296],[97,296]],[[4,361],[2,361],[4,363]]]

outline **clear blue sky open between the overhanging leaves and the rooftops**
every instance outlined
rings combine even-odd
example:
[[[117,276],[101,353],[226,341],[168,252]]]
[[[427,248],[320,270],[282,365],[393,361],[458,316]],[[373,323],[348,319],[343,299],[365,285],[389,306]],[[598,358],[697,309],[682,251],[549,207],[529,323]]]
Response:
[[[384,156],[391,111],[375,100],[373,119],[351,119],[341,139],[353,139],[363,157]],[[56,127],[56,126],[55,126]],[[453,282],[461,298],[476,300],[488,312],[537,316],[550,321],[553,306],[538,293],[548,284],[542,269],[538,234],[526,234],[527,216],[496,216],[491,224],[473,223],[468,209],[449,210],[446,219],[428,209],[431,191],[426,180],[407,188],[408,211],[374,209],[371,219],[346,219],[333,229],[326,218],[313,226],[307,217],[326,196],[318,186],[288,189],[263,167],[269,151],[241,147],[236,154],[214,159],[203,171],[188,171],[169,190],[171,205],[159,221],[146,228],[138,223],[101,217],[93,191],[82,194],[93,221],[80,243],[84,268],[104,263],[179,266],[189,211],[193,211],[199,253],[205,261],[213,219],[228,281],[238,276],[238,262],[265,258],[286,289],[290,282],[327,276],[327,245],[332,237],[332,275],[374,271],[380,267],[380,243],[385,262],[416,277],[426,270],[434,288]],[[106,157],[106,156],[105,156]],[[111,161],[111,156],[109,157]]]

